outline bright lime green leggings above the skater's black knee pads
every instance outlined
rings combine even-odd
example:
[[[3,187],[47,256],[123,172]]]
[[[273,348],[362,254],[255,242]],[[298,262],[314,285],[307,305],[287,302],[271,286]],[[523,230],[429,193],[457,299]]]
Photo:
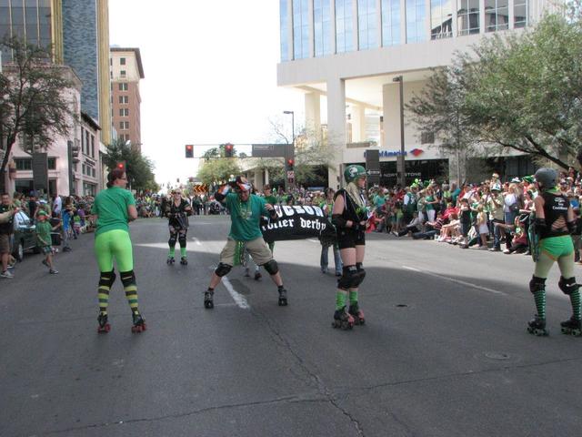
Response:
[[[113,259],[119,271],[134,269],[134,254],[129,233],[122,229],[113,229],[95,238],[95,257],[99,271],[113,270]]]

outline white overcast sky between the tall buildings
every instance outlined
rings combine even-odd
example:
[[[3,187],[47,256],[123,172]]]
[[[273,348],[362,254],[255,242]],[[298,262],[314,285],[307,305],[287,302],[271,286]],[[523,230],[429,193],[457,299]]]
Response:
[[[303,94],[276,86],[276,0],[109,0],[109,41],[140,49],[142,153],[160,184],[196,177],[186,144],[271,142],[269,120],[291,132],[286,110],[303,123]]]

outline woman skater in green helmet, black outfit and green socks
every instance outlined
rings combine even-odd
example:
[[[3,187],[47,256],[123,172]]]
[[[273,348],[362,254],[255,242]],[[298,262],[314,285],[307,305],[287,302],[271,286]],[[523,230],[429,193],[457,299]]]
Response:
[[[366,252],[366,222],[370,217],[366,206],[366,169],[347,166],[344,171],[347,186],[336,192],[332,223],[336,227],[337,245],[342,259],[342,276],[337,280],[336,312],[332,326],[349,330],[365,323],[358,303],[359,286],[366,277],[362,267]],[[346,311],[346,300],[349,309]]]

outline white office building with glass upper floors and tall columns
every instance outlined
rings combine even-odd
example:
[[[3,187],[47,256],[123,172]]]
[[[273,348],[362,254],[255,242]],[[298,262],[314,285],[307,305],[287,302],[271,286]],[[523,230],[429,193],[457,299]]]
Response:
[[[365,161],[370,144],[380,147],[387,175],[381,182],[396,183],[397,76],[403,77],[406,104],[425,86],[431,68],[449,65],[457,50],[468,50],[488,33],[519,32],[555,7],[548,0],[279,0],[279,5],[277,83],[305,94],[306,127],[325,131],[341,150],[329,174],[332,187],[345,164]],[[412,123],[406,123],[405,137],[409,178],[448,177],[443,168],[452,179],[460,177],[455,158],[441,156],[433,137],[419,137]],[[511,160],[531,171],[527,157]]]

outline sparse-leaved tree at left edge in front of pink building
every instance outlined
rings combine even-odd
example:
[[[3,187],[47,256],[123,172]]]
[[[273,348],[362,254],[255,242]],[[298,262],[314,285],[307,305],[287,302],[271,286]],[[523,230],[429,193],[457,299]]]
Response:
[[[69,70],[52,64],[47,49],[17,38],[3,40],[0,47],[14,54],[0,75],[0,139],[6,145],[0,174],[4,175],[19,137],[27,153],[35,147],[49,148],[56,136],[68,135],[77,115],[67,97],[67,90],[75,86],[67,77]]]

